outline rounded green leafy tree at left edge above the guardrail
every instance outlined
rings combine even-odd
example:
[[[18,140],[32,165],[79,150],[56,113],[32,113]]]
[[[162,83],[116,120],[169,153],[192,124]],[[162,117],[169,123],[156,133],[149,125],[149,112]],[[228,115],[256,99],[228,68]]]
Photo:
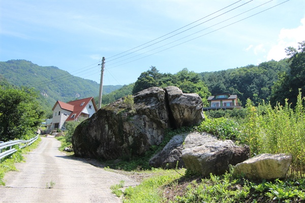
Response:
[[[0,86],[0,140],[33,137],[43,113],[33,90]]]

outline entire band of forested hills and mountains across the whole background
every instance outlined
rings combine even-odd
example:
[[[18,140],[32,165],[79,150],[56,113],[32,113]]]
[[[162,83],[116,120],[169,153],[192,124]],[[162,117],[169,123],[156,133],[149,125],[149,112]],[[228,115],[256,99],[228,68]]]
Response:
[[[272,60],[215,72],[195,73],[184,68],[175,74],[160,73],[151,66],[135,83],[105,85],[102,104],[107,105],[152,86],[174,85],[184,93],[197,93],[204,105],[210,95],[229,93],[236,94],[242,106],[248,98],[255,105],[264,101],[271,102],[272,106],[277,102],[283,105],[287,98],[294,106],[298,89],[304,90],[305,86],[305,42],[299,43],[297,48],[288,47],[286,52],[287,59],[279,62]],[[41,67],[25,60],[0,62],[0,85],[33,87],[43,108],[49,110],[56,100],[68,102],[94,96],[98,101],[97,82],[75,77],[57,67]]]

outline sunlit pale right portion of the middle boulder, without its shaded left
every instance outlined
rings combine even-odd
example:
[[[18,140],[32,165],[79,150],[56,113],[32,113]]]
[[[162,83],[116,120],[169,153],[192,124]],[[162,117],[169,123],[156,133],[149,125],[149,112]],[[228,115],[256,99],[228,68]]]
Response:
[[[182,160],[186,168],[207,177],[210,173],[223,175],[229,170],[229,165],[236,165],[249,158],[248,147],[235,146],[232,140],[219,140],[209,134],[202,134],[201,144],[196,136],[187,136],[182,150]],[[194,146],[194,147],[192,147]]]

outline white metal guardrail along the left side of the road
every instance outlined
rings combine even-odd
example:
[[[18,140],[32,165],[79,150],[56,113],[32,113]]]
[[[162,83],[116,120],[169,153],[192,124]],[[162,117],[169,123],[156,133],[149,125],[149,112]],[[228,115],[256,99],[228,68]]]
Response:
[[[36,137],[33,137],[32,139],[29,140],[13,140],[13,141],[7,141],[7,142],[2,142],[0,143],[0,162],[4,157],[7,157],[15,152],[17,152],[18,150],[13,148],[12,146],[15,146],[18,144],[19,149],[25,148],[26,146],[29,146],[30,144],[32,144],[33,142],[35,142],[38,139],[37,135]],[[3,149],[7,149],[10,148],[9,150],[6,150],[4,152],[2,152]]]

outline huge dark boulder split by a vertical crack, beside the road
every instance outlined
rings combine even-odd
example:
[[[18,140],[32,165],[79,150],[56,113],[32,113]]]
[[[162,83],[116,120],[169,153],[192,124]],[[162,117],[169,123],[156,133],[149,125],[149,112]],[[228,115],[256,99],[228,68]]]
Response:
[[[175,87],[167,89],[179,91]],[[121,98],[98,110],[75,129],[72,137],[75,155],[103,159],[141,155],[151,146],[160,144],[165,129],[199,124],[204,119],[198,95],[176,96],[180,108],[171,109],[165,90],[149,88],[134,95],[132,105],[127,98]],[[179,106],[179,102],[176,103]],[[181,118],[174,116],[176,109],[185,114],[179,113]],[[190,113],[197,116],[190,118]]]

